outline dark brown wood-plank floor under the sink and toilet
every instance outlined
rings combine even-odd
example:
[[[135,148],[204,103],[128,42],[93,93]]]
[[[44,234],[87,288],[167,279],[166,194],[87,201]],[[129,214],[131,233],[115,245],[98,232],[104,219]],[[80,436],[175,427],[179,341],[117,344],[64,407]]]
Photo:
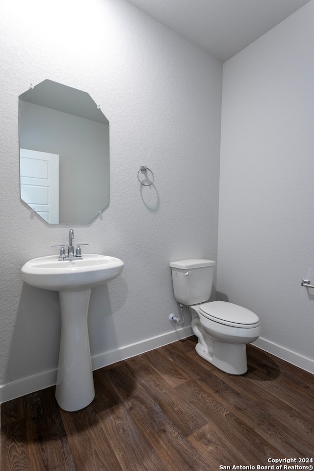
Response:
[[[78,412],[59,409],[54,388],[1,404],[1,471],[313,466],[298,459],[314,458],[314,375],[248,345],[247,373],[232,376],[195,343],[94,371],[95,399]]]

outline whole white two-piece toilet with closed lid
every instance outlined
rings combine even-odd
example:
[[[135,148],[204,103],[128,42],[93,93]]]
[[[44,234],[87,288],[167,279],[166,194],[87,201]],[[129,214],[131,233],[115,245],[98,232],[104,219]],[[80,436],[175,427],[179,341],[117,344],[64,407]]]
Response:
[[[174,295],[192,313],[197,353],[230,374],[247,371],[246,344],[260,337],[259,317],[225,301],[208,302],[216,262],[188,259],[170,262]]]

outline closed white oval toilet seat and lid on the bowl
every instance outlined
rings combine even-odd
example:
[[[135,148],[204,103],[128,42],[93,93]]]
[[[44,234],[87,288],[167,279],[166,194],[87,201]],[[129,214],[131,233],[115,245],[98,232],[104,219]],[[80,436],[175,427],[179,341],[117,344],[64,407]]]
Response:
[[[219,324],[252,329],[260,325],[259,317],[242,306],[225,301],[212,301],[199,306],[199,314]]]

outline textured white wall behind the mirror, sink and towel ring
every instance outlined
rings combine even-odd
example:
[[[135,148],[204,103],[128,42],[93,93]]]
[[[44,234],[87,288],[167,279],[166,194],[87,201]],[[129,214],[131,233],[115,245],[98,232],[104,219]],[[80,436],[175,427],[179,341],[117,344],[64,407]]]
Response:
[[[88,92],[110,123],[110,204],[90,226],[73,227],[88,252],[125,262],[122,276],[92,292],[90,343],[98,367],[136,351],[132,344],[179,338],[169,335],[175,332],[169,314],[178,313],[169,261],[216,259],[222,66],[125,0],[88,6],[2,0],[0,30],[0,400],[6,400],[55,378],[58,295],[23,284],[20,269],[54,253],[50,246],[64,243],[69,231],[47,225],[20,201],[17,97],[49,78]],[[153,186],[138,182],[140,165],[153,170]]]

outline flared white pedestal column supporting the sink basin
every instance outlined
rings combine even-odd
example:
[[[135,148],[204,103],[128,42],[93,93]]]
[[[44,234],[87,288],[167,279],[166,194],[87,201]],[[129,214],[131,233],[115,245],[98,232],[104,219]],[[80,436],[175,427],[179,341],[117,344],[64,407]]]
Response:
[[[91,289],[59,291],[61,340],[55,397],[61,409],[78,411],[95,396],[87,314]]]

